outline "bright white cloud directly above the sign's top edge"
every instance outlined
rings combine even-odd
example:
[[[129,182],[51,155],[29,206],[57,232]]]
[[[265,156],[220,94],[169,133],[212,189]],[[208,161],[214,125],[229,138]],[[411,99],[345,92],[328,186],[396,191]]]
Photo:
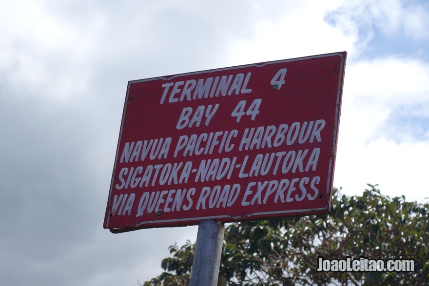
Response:
[[[280,11],[278,18],[263,18],[251,38],[234,43],[229,60],[235,64],[304,57],[347,51],[353,57],[355,35],[345,35],[329,25],[324,16],[338,2],[285,2],[267,10]]]

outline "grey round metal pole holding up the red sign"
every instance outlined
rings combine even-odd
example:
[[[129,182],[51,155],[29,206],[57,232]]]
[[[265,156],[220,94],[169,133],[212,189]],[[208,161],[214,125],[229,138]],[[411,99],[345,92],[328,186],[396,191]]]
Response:
[[[222,255],[223,223],[204,220],[198,224],[190,286],[216,286]]]

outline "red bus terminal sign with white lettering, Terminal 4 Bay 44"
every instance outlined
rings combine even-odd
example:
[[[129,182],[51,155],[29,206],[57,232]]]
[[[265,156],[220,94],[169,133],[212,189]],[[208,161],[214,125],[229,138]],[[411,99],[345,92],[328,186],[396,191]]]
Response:
[[[104,228],[328,212],[346,57],[128,82]]]

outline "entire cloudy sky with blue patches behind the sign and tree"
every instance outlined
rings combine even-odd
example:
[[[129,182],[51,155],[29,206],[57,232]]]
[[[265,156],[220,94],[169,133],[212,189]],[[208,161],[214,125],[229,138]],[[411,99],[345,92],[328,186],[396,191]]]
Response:
[[[196,227],[112,234],[129,80],[347,51],[334,186],[428,196],[426,0],[0,0],[0,281],[135,286]]]

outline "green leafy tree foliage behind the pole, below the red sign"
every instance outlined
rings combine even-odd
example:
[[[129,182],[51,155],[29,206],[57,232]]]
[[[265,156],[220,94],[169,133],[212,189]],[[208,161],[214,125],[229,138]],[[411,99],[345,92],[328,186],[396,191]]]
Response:
[[[334,190],[331,212],[226,228],[219,285],[428,285],[429,204]],[[170,247],[165,270],[144,286],[189,283],[195,245]],[[414,272],[317,272],[317,258],[414,259]]]

